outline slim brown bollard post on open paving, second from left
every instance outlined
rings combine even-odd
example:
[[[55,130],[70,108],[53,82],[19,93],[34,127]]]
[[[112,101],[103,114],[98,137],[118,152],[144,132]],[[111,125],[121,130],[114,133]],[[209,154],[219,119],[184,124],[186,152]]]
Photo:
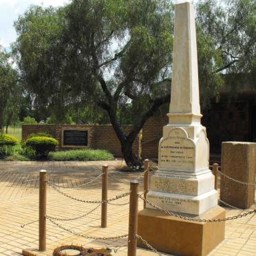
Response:
[[[107,200],[107,186],[108,186],[108,172],[107,165],[103,166],[103,182],[102,182],[102,191],[101,191],[101,200]],[[101,227],[107,227],[107,202],[101,204]]]

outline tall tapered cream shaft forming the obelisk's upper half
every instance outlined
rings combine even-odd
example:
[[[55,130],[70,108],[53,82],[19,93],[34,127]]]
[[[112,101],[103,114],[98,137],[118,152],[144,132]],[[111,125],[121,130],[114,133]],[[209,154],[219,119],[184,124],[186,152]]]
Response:
[[[173,78],[169,122],[200,122],[198,54],[195,34],[195,11],[192,3],[175,5]]]

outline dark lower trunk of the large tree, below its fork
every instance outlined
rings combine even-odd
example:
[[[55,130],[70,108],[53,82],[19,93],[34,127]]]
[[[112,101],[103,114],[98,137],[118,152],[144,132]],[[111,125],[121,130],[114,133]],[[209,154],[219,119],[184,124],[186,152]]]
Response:
[[[131,169],[141,169],[143,162],[142,160],[134,153],[132,148],[132,142],[121,143],[122,147],[122,156],[125,159],[125,162],[128,167]]]

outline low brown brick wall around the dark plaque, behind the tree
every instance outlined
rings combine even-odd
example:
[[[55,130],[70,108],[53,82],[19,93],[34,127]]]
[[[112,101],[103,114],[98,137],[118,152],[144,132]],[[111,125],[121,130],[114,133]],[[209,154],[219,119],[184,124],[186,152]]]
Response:
[[[56,138],[56,140],[58,140],[58,147],[56,147],[56,150],[74,149],[74,147],[61,147],[61,130],[63,128],[86,128],[89,130],[88,144],[90,148],[106,149],[113,153],[117,158],[122,157],[121,145],[112,125],[22,125],[22,140],[26,140],[30,134],[45,132],[47,134],[51,134],[54,138]],[[126,134],[128,134],[129,131],[131,131],[131,125],[125,125],[124,129]],[[139,138],[136,138],[134,141],[133,148],[134,153],[139,155]]]

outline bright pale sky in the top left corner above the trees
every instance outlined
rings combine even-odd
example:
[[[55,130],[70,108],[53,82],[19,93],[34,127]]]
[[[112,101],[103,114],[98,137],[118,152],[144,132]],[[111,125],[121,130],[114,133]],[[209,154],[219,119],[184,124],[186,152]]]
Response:
[[[190,0],[174,0],[180,3]],[[0,45],[9,50],[10,43],[14,42],[17,34],[13,23],[32,4],[47,6],[64,6],[70,0],[0,0]],[[195,2],[195,0],[193,1]]]

